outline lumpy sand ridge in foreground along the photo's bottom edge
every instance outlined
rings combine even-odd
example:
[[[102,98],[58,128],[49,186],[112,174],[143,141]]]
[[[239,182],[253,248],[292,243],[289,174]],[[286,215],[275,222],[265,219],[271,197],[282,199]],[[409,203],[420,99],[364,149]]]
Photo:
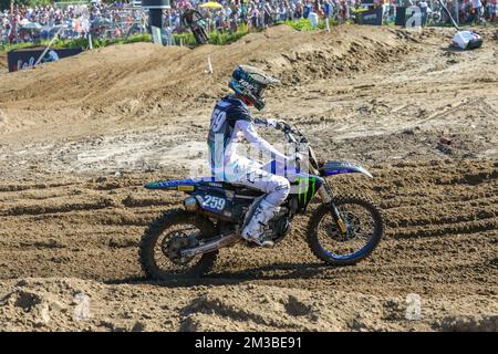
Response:
[[[4,331],[497,331],[497,315],[470,314],[478,295],[453,302],[253,284],[162,288],[72,278],[2,281]]]

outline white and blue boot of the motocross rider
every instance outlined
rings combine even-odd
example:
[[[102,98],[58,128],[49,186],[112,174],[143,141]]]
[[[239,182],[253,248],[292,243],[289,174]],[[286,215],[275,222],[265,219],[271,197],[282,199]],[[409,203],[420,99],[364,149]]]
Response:
[[[247,241],[255,242],[261,247],[272,247],[273,241],[264,239],[264,227],[279,209],[279,207],[273,206],[264,199],[261,200],[252,214],[252,218],[243,228],[242,237]]]

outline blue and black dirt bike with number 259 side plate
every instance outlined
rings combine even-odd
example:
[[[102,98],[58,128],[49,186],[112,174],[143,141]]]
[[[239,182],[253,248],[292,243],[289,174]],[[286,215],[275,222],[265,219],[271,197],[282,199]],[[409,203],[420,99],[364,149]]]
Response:
[[[297,152],[307,152],[308,173],[300,171],[302,162],[298,162],[297,173],[288,178],[291,191],[266,226],[266,238],[278,247],[289,233],[293,217],[304,214],[311,199],[319,195],[322,204],[313,210],[305,235],[311,251],[326,264],[357,263],[381,241],[384,233],[381,210],[364,196],[334,195],[324,177],[359,173],[372,178],[372,175],[353,163],[318,160],[301,132],[288,126],[283,133]],[[264,197],[261,191],[210,177],[154,181],[145,188],[188,195],[184,208],[165,211],[145,230],[139,242],[139,262],[147,277],[156,280],[200,277],[212,269],[219,249],[238,242],[253,247],[240,233]]]

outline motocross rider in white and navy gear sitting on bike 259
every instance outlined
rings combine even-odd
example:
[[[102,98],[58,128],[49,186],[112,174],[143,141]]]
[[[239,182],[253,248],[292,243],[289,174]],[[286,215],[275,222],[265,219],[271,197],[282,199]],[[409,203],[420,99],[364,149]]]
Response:
[[[237,153],[237,145],[246,138],[251,147],[271,156],[274,163],[287,164],[289,157],[277,150],[271,144],[261,138],[256,126],[273,127],[279,131],[290,128],[283,121],[255,118],[249,106],[258,111],[264,107],[264,88],[280,83],[279,80],[263,71],[238,65],[231,76],[229,87],[235,92],[220,98],[212,111],[208,134],[211,174],[215,180],[224,180],[234,185],[242,185],[266,194],[253,209],[251,219],[246,223],[241,236],[250,242],[262,247],[271,247],[272,241],[266,240],[264,227],[279,211],[279,206],[289,195],[289,180],[283,174],[276,175],[263,166]]]

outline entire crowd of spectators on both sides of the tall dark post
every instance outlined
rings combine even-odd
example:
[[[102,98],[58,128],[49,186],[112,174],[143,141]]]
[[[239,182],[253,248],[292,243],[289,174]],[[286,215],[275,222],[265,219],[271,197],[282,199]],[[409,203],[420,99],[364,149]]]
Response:
[[[189,1],[189,2],[187,2]],[[206,19],[208,30],[236,31],[241,25],[262,28],[281,21],[322,18],[344,22],[355,11],[370,7],[383,7],[384,18],[394,20],[395,6],[417,6],[422,9],[424,23],[448,22],[436,0],[220,0],[219,9],[203,9],[207,0],[172,0],[172,9],[164,11],[165,27],[170,31],[187,30],[181,13],[187,7],[199,10]],[[496,22],[498,0],[447,0],[447,8],[460,23]],[[144,32],[147,29],[147,12],[132,3],[102,3],[63,7],[15,6],[0,12],[0,42],[33,42],[48,39],[55,33],[61,38],[79,38],[92,33],[98,38],[114,38]],[[63,29],[61,29],[61,27]],[[60,30],[61,29],[61,30]]]

